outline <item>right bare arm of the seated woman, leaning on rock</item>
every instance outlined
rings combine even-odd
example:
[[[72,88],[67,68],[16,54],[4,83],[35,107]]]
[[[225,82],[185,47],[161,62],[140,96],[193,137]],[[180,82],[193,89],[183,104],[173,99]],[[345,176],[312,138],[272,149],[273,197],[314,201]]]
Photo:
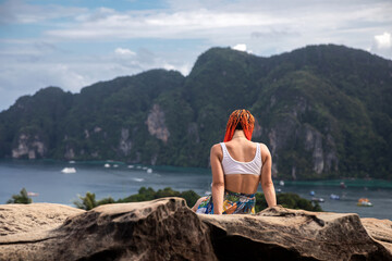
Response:
[[[262,146],[262,169],[261,169],[261,188],[265,194],[268,207],[271,208],[273,206],[277,206],[277,196],[272,183],[271,177],[271,166],[272,166],[272,157],[267,148],[267,146]]]

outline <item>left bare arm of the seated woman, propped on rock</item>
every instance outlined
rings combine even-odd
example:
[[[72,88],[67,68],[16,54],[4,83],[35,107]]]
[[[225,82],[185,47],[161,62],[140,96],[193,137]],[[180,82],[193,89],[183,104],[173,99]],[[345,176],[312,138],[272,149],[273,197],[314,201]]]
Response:
[[[212,171],[212,201],[215,214],[222,214],[223,211],[224,176],[221,164],[222,157],[221,146],[219,144],[212,146],[210,162]]]

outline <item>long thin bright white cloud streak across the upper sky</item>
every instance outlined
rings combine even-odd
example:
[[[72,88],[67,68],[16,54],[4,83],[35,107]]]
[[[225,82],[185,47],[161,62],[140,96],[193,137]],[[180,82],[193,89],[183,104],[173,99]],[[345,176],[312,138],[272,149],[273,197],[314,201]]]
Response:
[[[87,15],[88,16],[88,15]],[[91,15],[94,16],[94,15]],[[47,30],[48,36],[60,39],[114,39],[169,38],[195,39],[244,32],[289,23],[285,17],[268,13],[241,13],[210,11],[206,9],[166,12],[108,12],[95,20],[84,20],[65,28]]]

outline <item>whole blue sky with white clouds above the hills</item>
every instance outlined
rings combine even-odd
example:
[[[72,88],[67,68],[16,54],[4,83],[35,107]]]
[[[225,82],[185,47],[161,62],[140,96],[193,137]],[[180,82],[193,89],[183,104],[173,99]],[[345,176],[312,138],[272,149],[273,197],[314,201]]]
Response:
[[[211,47],[270,57],[335,44],[392,60],[391,14],[392,0],[0,0],[0,111],[48,86],[186,76]]]

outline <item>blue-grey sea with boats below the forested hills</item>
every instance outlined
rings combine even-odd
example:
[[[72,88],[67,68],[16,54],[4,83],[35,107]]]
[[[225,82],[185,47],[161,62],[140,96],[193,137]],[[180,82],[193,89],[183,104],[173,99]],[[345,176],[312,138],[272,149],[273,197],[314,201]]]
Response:
[[[64,169],[71,173],[64,173]],[[75,172],[73,172],[73,169]],[[115,161],[0,160],[0,204],[22,188],[32,192],[34,202],[62,203],[74,207],[78,196],[94,192],[96,199],[124,198],[137,194],[140,187],[155,190],[194,190],[200,196],[211,191],[208,169],[148,166]],[[284,184],[283,184],[284,183]],[[323,211],[357,213],[360,217],[392,220],[392,181],[333,179],[283,181],[275,178],[279,192],[295,192],[306,199],[323,199]],[[341,186],[344,183],[345,188]],[[259,188],[261,191],[261,188]],[[335,195],[339,199],[332,199]],[[367,198],[372,207],[358,207]]]

